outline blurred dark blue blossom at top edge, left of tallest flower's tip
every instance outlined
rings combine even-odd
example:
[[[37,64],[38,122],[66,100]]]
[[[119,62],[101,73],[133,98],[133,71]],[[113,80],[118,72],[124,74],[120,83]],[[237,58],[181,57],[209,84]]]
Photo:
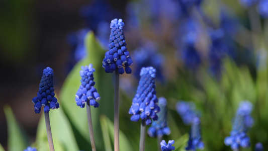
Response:
[[[110,22],[118,17],[118,13],[106,0],[94,0],[80,9],[80,16],[85,20],[87,28],[96,32],[100,23]]]

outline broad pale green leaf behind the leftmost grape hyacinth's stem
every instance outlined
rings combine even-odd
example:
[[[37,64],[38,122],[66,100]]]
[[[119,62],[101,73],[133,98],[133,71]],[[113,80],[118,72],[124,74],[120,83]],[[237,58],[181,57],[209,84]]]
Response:
[[[61,108],[49,112],[52,138],[55,150],[78,150],[71,125]],[[45,117],[42,114],[37,127],[37,149],[49,150]]]

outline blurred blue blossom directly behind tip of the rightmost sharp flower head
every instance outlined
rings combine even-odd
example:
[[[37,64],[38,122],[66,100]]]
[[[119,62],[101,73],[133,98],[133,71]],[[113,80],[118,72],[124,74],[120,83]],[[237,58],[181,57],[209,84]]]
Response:
[[[156,79],[164,81],[161,66],[164,62],[164,56],[157,53],[157,48],[152,42],[146,42],[142,47],[137,48],[133,54],[133,60],[136,62],[136,71],[134,76],[139,78],[139,71],[143,66],[152,66],[157,70]]]

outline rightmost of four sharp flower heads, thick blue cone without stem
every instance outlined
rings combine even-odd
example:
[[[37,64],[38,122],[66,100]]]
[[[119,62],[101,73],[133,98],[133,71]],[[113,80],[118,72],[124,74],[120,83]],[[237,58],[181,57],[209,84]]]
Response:
[[[128,112],[132,114],[130,118],[132,121],[142,119],[146,120],[146,125],[151,125],[151,118],[154,121],[158,119],[156,113],[160,112],[160,107],[157,105],[158,99],[155,95],[155,72],[151,66],[141,68],[139,86]]]

